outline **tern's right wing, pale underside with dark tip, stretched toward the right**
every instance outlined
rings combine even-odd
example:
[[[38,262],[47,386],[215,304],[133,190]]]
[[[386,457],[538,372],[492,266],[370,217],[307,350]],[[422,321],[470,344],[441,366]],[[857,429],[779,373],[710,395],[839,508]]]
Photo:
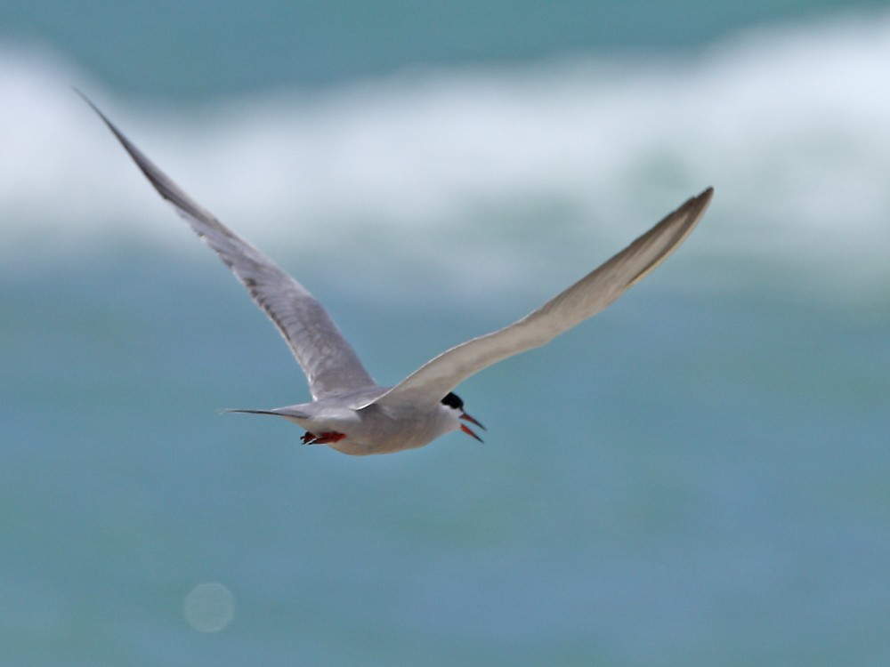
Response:
[[[433,405],[470,375],[544,345],[592,317],[655,269],[683,243],[705,213],[714,189],[692,197],[631,245],[518,322],[443,352],[374,401]]]

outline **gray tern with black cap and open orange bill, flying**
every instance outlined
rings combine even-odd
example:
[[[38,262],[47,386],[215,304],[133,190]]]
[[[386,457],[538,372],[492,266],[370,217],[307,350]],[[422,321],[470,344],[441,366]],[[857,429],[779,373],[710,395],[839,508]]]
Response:
[[[684,242],[714,194],[708,187],[689,198],[624,250],[525,317],[442,352],[387,387],[368,374],[328,311],[303,285],[189,197],[92,100],[77,92],[158,194],[247,288],[303,369],[311,402],[227,412],[284,417],[305,430],[300,438],[304,444],[327,445],[343,454],[400,452],[455,430],[481,442],[468,424],[485,427],[465,411],[464,401],[454,393],[457,385],[488,366],[550,342],[609,306]]]

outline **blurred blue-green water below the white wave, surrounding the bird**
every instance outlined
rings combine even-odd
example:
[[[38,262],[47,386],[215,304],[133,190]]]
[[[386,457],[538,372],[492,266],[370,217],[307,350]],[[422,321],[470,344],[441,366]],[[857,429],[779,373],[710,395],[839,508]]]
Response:
[[[485,445],[351,459],[215,414],[304,390],[208,273],[4,281],[11,664],[886,658],[886,307],[648,285],[467,382]],[[377,374],[522,308],[328,301]],[[237,604],[212,637],[206,581]]]

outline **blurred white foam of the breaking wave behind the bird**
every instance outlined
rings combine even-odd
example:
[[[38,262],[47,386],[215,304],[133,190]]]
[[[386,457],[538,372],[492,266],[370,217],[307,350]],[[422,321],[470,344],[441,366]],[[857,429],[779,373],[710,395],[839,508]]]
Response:
[[[577,275],[592,243],[602,258],[714,185],[684,253],[868,285],[890,274],[888,64],[885,16],[749,33],[659,62],[414,70],[187,109],[114,100],[61,60],[0,49],[0,253],[139,235],[187,245],[77,84],[199,201],[279,255],[385,249],[506,282],[565,254]]]

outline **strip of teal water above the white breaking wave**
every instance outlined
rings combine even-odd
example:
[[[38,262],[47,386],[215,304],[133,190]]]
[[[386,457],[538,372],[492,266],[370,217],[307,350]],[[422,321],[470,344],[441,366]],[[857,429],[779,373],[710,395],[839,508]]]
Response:
[[[696,51],[742,28],[870,16],[885,0],[744,4],[679,0],[472,0],[374,4],[274,0],[32,0],[0,6],[0,36],[48,45],[119,92],[180,100],[325,87],[404,68],[490,65],[595,53]]]

